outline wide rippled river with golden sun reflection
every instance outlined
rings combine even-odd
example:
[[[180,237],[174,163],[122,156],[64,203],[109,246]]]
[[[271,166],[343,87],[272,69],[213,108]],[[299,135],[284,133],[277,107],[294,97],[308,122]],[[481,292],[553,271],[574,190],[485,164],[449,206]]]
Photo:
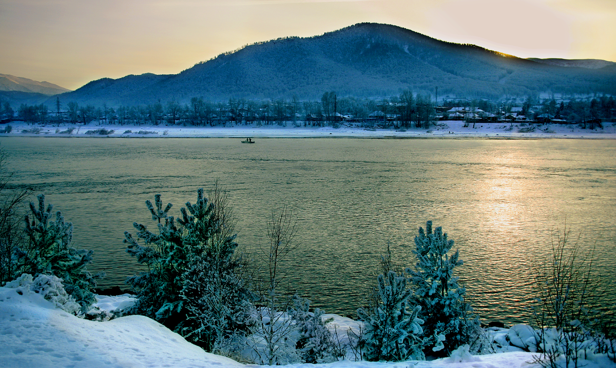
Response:
[[[253,254],[272,210],[293,212],[301,244],[285,260],[285,284],[328,313],[353,316],[364,304],[387,242],[395,263],[413,266],[427,220],[460,249],[456,274],[484,321],[529,322],[533,269],[565,224],[583,250],[595,247],[596,270],[616,266],[615,140],[10,137],[1,146],[12,183],[46,194],[75,225],[74,246],[94,250],[89,269],[107,273],[103,287],[139,270],[122,240],[133,222],[154,226],[147,199],[161,193],[177,215],[216,179]]]

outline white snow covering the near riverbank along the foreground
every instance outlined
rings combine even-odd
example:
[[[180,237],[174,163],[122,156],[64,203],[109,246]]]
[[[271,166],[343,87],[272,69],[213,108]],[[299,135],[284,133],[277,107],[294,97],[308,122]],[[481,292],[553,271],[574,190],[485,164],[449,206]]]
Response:
[[[22,294],[18,293],[21,292]],[[97,305],[115,310],[130,303],[129,295],[99,297]],[[325,315],[328,318],[331,314]],[[344,329],[358,322],[339,316]],[[0,367],[3,368],[139,368],[139,367],[264,367],[241,364],[206,353],[180,335],[144,316],[124,316],[97,322],[73,316],[41,294],[0,287]],[[480,356],[458,354],[434,361],[339,361],[323,368],[516,368],[539,367],[530,363],[537,354],[510,351]],[[584,361],[586,368],[616,367],[608,359]],[[315,367],[291,364],[290,368]]]

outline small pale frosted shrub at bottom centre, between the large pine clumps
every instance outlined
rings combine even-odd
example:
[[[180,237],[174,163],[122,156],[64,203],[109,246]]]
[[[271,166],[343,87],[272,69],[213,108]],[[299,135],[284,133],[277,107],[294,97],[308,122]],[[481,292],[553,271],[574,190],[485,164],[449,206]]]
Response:
[[[302,362],[304,363],[329,363],[336,361],[333,353],[333,342],[331,332],[325,327],[333,319],[323,321],[324,312],[315,308],[310,312],[310,300],[293,295],[293,306],[287,313],[299,331],[300,337],[296,343],[296,348]]]

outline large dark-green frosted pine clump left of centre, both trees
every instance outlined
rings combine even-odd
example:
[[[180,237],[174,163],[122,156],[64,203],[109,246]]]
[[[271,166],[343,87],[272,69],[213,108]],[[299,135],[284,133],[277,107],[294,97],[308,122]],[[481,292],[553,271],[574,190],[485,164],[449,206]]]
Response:
[[[146,205],[158,231],[133,223],[144,245],[124,233],[126,251],[147,266],[147,271],[126,281],[137,291],[132,312],[163,323],[209,351],[216,350],[217,341],[245,334],[253,310],[235,255],[232,218],[221,208],[225,197],[219,194],[214,193],[219,201],[209,201],[200,188],[197,202],[186,202],[177,222],[168,215],[172,204],[163,208],[156,194],[155,205]]]

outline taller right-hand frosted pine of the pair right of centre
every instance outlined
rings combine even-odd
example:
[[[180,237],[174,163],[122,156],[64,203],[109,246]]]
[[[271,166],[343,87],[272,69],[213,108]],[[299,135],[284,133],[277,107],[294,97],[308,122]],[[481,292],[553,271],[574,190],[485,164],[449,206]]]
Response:
[[[472,317],[471,306],[464,301],[466,289],[458,286],[458,278],[453,276],[453,269],[462,261],[458,259],[458,250],[448,254],[452,247],[453,240],[447,239],[447,233],[440,226],[432,232],[432,222],[428,221],[426,231],[419,227],[415,236],[415,270],[405,270],[414,288],[411,300],[421,306],[419,317],[424,320],[424,335],[431,340],[426,348],[444,350],[447,354],[469,343],[479,326],[479,320]]]

